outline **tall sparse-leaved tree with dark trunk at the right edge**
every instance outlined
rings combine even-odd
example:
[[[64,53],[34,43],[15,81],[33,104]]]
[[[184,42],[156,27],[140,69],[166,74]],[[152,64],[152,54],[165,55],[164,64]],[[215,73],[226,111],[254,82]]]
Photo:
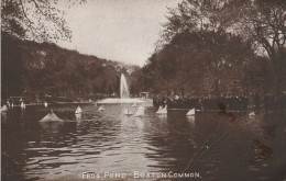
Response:
[[[226,11],[233,16],[229,27],[251,39],[257,54],[270,58],[276,71],[276,90],[282,92],[286,84],[286,1],[232,1]]]

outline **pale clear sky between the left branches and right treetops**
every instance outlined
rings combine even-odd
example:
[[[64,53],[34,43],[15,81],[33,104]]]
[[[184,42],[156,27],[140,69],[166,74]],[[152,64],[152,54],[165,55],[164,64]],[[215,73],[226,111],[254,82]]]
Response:
[[[57,44],[81,54],[143,66],[166,22],[167,7],[180,0],[87,0],[66,9],[72,43]]]

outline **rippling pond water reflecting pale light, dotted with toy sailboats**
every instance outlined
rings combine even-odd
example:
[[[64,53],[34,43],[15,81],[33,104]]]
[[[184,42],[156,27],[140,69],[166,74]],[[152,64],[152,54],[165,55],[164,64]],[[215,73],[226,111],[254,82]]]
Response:
[[[76,116],[77,104],[51,106],[64,122],[40,123],[48,112],[43,105],[1,113],[2,180],[81,180],[86,172],[100,177],[92,180],[286,179],[280,113],[186,117],[187,110],[156,115],[146,105],[145,115],[134,117],[123,114],[128,104],[105,112],[81,104]]]

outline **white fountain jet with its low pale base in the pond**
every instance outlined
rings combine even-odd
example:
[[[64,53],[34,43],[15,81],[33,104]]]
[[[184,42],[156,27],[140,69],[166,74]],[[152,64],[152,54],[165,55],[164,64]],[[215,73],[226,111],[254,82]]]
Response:
[[[123,73],[121,73],[121,77],[120,77],[120,98],[107,98],[107,99],[98,101],[98,103],[101,103],[101,104],[134,103],[134,102],[142,102],[143,103],[143,102],[150,102],[150,101],[151,100],[146,100],[146,99],[130,98],[125,76]]]

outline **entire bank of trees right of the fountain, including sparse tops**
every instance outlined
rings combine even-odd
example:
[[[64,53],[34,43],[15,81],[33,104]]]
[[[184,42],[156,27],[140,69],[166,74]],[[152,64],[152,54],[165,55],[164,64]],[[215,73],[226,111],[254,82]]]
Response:
[[[285,10],[278,0],[184,0],[169,9],[142,68],[144,88],[161,95],[285,93]]]

